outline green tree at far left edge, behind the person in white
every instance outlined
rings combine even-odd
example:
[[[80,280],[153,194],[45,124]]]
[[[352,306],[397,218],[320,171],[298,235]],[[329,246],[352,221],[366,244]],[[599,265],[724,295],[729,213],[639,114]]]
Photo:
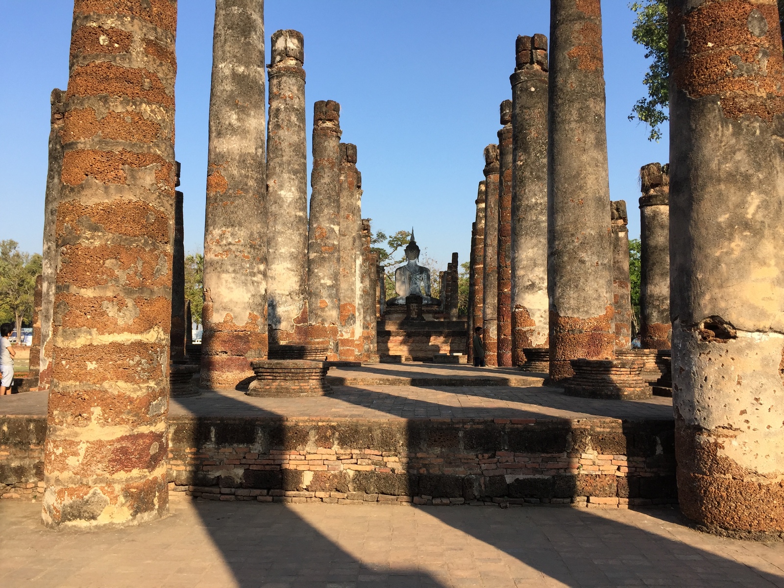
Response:
[[[0,317],[16,324],[16,343],[21,343],[22,322],[33,319],[35,277],[41,273],[42,257],[16,249],[19,243],[0,241]]]

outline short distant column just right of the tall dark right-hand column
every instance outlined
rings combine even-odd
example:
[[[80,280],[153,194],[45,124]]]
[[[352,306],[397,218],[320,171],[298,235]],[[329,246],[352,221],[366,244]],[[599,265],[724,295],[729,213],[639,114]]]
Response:
[[[612,221],[612,307],[615,350],[632,348],[632,298],[629,281],[629,229],[626,201],[610,203]]]

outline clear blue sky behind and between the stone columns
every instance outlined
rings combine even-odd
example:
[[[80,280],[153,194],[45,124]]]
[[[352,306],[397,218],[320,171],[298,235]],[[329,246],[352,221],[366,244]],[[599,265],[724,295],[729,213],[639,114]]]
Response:
[[[31,9],[34,5],[34,9]],[[0,239],[42,249],[49,93],[67,85],[69,0],[0,0]],[[362,214],[374,230],[416,230],[446,266],[468,258],[482,149],[495,143],[499,103],[510,98],[514,40],[549,34],[545,0],[267,0],[270,34],[305,36],[308,127],[315,100],[341,104],[343,141],[358,146]],[[626,120],[644,95],[644,50],[631,39],[624,0],[604,0],[604,73],[613,200],[626,199],[639,234],[637,172],[668,160],[668,136],[649,143]],[[176,155],[182,162],[185,248],[204,235],[214,0],[180,0]],[[310,132],[308,134],[310,151]]]

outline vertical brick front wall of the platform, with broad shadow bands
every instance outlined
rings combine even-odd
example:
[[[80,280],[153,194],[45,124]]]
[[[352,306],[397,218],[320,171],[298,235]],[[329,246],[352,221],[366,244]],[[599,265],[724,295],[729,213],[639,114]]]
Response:
[[[44,434],[45,416],[0,417],[3,498],[44,491]],[[674,504],[673,421],[173,416],[169,488],[284,503]]]

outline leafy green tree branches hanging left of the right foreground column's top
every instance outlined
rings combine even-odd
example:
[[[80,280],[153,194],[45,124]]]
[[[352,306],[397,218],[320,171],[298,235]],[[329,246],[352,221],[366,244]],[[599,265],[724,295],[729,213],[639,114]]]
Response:
[[[781,0],[779,0],[781,2]],[[662,123],[670,120],[669,64],[667,62],[667,2],[666,0],[641,0],[629,8],[637,14],[632,28],[634,42],[643,45],[645,59],[652,59],[643,83],[648,87],[648,97],[637,100],[629,120],[635,118],[651,128],[649,141],[662,138]]]

